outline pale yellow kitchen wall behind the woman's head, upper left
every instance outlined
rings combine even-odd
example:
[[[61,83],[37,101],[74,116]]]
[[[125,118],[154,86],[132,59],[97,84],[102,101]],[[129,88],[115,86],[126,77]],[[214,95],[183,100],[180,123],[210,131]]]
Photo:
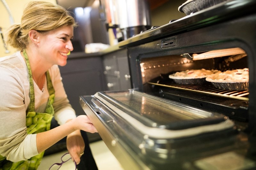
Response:
[[[21,0],[21,1],[5,0],[5,2],[8,4],[8,6],[11,10],[14,23],[20,23],[23,10],[24,10],[26,4],[30,1],[33,1],[33,0]],[[56,0],[44,0],[44,1],[56,4]],[[0,17],[0,27],[2,27],[2,32],[3,32],[3,34],[5,34],[8,27],[11,26],[11,22],[10,22],[9,15],[8,15],[2,1],[0,1],[0,16],[1,16]],[[5,55],[10,55],[10,54],[14,53],[15,51],[17,51],[17,49],[8,46],[7,48],[10,51],[10,53],[6,54],[2,38],[0,38],[0,39],[1,39],[0,40],[0,57],[3,57]]]

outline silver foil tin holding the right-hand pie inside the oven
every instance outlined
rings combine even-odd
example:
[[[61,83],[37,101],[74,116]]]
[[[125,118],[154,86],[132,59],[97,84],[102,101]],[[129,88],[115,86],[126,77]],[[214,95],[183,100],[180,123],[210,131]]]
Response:
[[[211,82],[216,88],[225,89],[225,90],[248,90],[249,89],[249,81],[246,82],[218,82],[216,80],[211,79],[210,77],[205,79],[208,82]]]

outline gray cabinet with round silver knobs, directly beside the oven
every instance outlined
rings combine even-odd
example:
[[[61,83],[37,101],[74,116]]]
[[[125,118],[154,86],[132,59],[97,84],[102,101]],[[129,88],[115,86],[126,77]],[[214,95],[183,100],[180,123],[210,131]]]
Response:
[[[132,87],[127,49],[103,55],[103,69],[108,90],[126,90]]]

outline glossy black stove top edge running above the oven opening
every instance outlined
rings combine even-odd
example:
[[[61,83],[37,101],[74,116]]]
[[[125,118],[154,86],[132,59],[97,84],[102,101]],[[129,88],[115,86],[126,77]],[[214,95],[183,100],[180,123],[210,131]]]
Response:
[[[119,47],[132,47],[143,43],[155,41],[166,36],[186,32],[215,23],[225,22],[244,15],[255,13],[255,0],[234,0],[214,5],[202,11],[195,12],[170,23],[152,28],[118,43]]]

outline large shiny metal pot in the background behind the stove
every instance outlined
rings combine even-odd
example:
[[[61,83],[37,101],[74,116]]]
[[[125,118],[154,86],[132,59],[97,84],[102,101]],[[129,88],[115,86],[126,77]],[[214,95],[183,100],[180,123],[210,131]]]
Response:
[[[108,23],[120,28],[124,40],[151,27],[148,0],[105,0]]]

